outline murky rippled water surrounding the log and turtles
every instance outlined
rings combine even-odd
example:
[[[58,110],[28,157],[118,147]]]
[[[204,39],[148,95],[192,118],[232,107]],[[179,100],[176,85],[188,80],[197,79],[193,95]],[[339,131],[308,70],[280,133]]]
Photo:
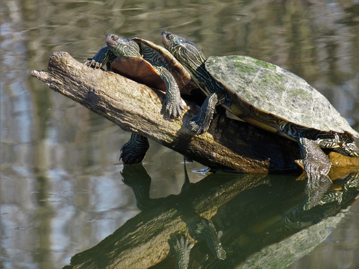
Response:
[[[119,149],[129,133],[30,76],[31,70],[47,69],[53,51],[67,51],[83,61],[105,44],[106,33],[161,44],[159,34],[172,31],[194,40],[207,56],[249,55],[302,76],[359,130],[357,8],[354,0],[2,1],[1,267],[61,268],[70,264],[75,254],[97,245],[126,221],[144,213],[137,209],[132,189],[120,173],[124,168],[118,163]],[[150,142],[144,164],[152,179],[150,198],[179,194],[185,177],[183,165],[180,154]],[[187,163],[188,171],[201,168],[199,163]],[[189,173],[192,183],[210,182],[213,190],[220,190],[226,182],[245,182],[247,177],[218,173],[209,178]],[[295,234],[290,230],[275,239],[265,236],[273,227],[282,227],[274,220],[284,219],[303,195],[303,181],[295,181],[293,176],[253,177],[259,181],[251,187],[251,203],[245,203],[241,198],[245,192],[238,191],[220,207],[233,219],[221,222],[225,214],[211,219],[223,233],[224,246],[248,249],[245,242],[249,237],[261,242],[256,247],[249,244],[253,252],[232,256],[242,261],[252,257],[247,264],[254,264],[250,262],[257,257],[255,253],[265,253],[269,245]],[[353,199],[350,196],[348,201]],[[234,202],[243,218],[235,218],[238,212],[230,206]],[[359,205],[344,212],[347,214],[332,217],[329,224],[323,222],[326,216],[336,213],[323,213],[317,222],[324,224],[311,227],[322,229],[316,233],[327,234],[303,255],[295,253],[285,266],[358,266]],[[302,237],[289,238],[296,240],[288,241],[291,247],[302,242]],[[309,238],[316,240],[311,234]],[[268,250],[268,259],[276,260],[268,255],[275,251]],[[156,251],[159,249],[154,248]],[[192,259],[203,264],[208,256],[203,253],[203,246],[195,245]],[[236,249],[227,253],[236,253]],[[172,263],[166,264],[157,266],[170,268]],[[245,267],[240,258],[236,264]],[[282,265],[272,264],[276,268]]]

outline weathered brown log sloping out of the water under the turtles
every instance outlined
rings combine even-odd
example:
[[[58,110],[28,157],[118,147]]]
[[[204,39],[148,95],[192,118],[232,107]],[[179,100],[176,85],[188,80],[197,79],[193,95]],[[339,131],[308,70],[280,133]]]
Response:
[[[212,169],[268,173],[297,169],[297,144],[257,129],[246,122],[215,114],[211,127],[196,136],[187,126],[199,107],[186,101],[182,120],[164,118],[165,94],[113,72],[94,70],[67,52],[50,56],[49,72],[31,75],[89,110],[116,123],[123,130],[146,136]],[[334,163],[336,161],[334,160]],[[341,160],[339,165],[359,166],[359,159]]]

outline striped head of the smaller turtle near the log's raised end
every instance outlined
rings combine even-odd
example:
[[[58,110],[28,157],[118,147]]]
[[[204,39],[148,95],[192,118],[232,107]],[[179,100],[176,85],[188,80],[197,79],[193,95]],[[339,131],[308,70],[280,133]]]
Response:
[[[107,34],[105,40],[107,47],[117,57],[141,57],[138,44],[130,38]]]

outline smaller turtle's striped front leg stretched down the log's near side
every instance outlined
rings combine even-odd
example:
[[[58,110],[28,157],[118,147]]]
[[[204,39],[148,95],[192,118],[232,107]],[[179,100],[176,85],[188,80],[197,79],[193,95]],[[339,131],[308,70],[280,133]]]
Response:
[[[166,115],[173,118],[180,117],[184,110],[184,106],[182,104],[181,93],[179,92],[176,80],[166,68],[154,68],[157,70],[162,80],[166,84]]]

